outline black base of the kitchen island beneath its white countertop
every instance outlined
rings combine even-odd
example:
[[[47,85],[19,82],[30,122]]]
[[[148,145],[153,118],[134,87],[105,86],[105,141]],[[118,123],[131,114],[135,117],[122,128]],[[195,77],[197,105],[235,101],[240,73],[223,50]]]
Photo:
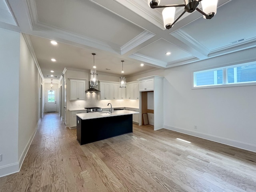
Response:
[[[76,117],[76,136],[80,145],[131,132],[132,114],[87,120]]]

